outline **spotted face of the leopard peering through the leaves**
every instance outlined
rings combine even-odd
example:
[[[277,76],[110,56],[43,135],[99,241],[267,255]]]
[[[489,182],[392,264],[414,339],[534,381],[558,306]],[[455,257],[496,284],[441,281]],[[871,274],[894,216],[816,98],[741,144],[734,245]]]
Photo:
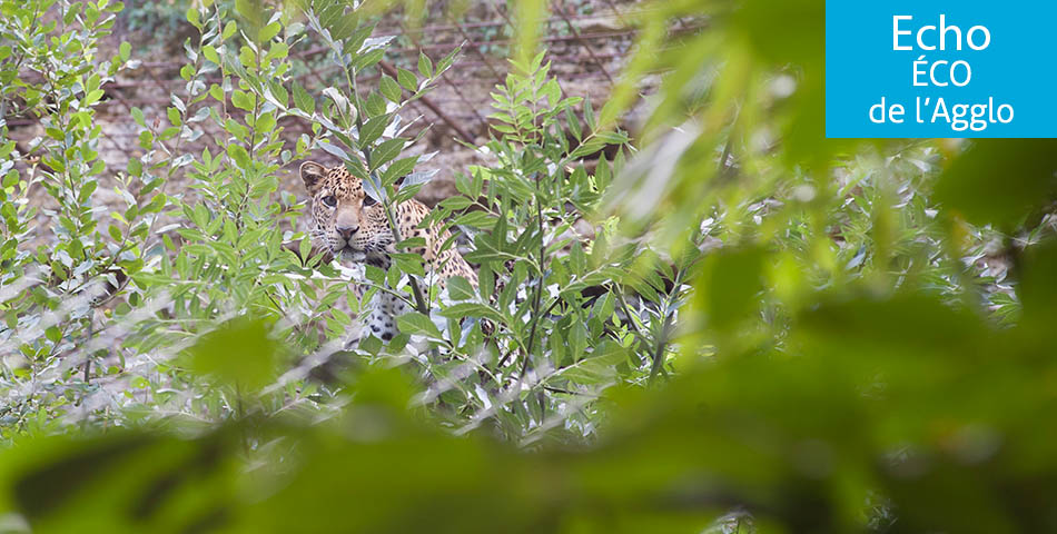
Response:
[[[337,258],[362,260],[393,244],[385,211],[365,194],[359,178],[344,167],[314,161],[302,164],[300,176],[312,196],[310,236],[317,246]]]

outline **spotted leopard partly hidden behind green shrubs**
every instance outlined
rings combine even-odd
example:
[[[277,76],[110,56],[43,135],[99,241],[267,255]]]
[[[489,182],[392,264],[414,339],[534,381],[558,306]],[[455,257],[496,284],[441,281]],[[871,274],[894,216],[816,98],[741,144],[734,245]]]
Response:
[[[383,270],[392,266],[397,253],[396,236],[389,225],[385,206],[364,190],[363,179],[344,166],[325,167],[305,161],[299,169],[302,181],[310,197],[308,230],[313,247],[328,253],[340,263],[365,263]],[[450,230],[433,221],[423,225],[429,208],[418,200],[397,204],[393,218],[401,239],[421,237],[424,245],[406,251],[423,259],[425,280],[443,291],[453,277],[465,278],[477,287],[477,273],[455,247],[444,247],[452,239]],[[357,295],[363,297],[362,286]],[[411,310],[407,301],[392,293],[379,291],[367,305],[369,310],[359,339],[373,335],[383,342],[392,340],[399,332],[396,318]]]

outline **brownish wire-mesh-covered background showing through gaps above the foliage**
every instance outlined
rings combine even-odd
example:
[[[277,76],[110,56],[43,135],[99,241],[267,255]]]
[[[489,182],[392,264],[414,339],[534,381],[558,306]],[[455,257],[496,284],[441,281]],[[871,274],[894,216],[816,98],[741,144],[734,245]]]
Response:
[[[441,8],[438,8],[441,9]],[[540,21],[541,44],[547,49],[552,72],[557,76],[563,96],[586,97],[603,101],[619,79],[624,58],[632,49],[636,34],[635,20],[642,6],[634,0],[556,0],[550,3],[550,16]],[[443,11],[436,21],[429,19],[419,27],[411,27],[403,13],[383,17],[374,34],[393,37],[392,47],[378,68],[362,72],[358,81],[364,87],[376,85],[384,75],[396,77],[397,69],[414,71],[419,53],[434,59],[462,46],[463,53],[451,71],[426,97],[416,100],[406,119],[418,118],[411,135],[428,128],[425,150],[439,150],[435,165],[441,167],[436,181],[424,190],[423,200],[433,204],[446,194],[444,182],[451,182],[457,168],[471,159],[468,149],[460,145],[482,144],[490,132],[492,90],[503,83],[508,69],[507,56],[514,46],[513,9],[506,2],[481,0],[470,3],[467,16],[455,18]],[[172,43],[169,43],[169,48]],[[305,44],[292,50],[295,59],[295,79],[309,92],[318,95],[328,86],[337,85],[338,72],[334,62],[326,61],[326,48]],[[157,53],[154,56],[158,56]],[[103,101],[97,108],[102,126],[100,157],[109,169],[120,171],[128,160],[140,154],[136,141],[139,131],[131,125],[129,113],[140,108],[148,123],[162,121],[172,97],[185,93],[187,81],[180,78],[184,57],[171,57],[138,62],[117,80],[108,83]],[[207,83],[221,83],[217,77]],[[645,91],[649,88],[644,89]],[[11,136],[18,139],[23,152],[32,139],[41,135],[32,117],[11,117]],[[289,121],[281,125],[288,139],[296,139],[309,125]],[[209,134],[209,132],[206,132]],[[326,155],[323,155],[326,159]],[[437,190],[438,189],[438,190]],[[431,194],[431,190],[434,192]]]

